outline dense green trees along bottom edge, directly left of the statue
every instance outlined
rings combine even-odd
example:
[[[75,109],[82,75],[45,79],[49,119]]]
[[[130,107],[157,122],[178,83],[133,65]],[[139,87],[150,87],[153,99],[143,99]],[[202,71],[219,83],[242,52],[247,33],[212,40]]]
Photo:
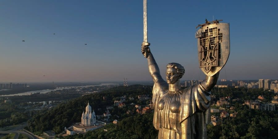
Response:
[[[153,126],[153,114],[130,116],[118,124],[108,124],[103,128],[82,135],[64,137],[66,139],[156,139],[158,130]],[[103,131],[103,129],[107,129]]]

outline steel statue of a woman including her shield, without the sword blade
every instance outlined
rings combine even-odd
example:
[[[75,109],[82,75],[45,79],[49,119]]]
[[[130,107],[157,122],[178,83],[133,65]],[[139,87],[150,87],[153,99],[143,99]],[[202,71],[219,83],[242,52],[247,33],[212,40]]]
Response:
[[[227,42],[227,39],[222,39],[228,38],[229,26],[223,29],[221,26],[217,28],[215,24],[219,25],[219,22],[200,25],[202,27],[196,32],[196,38],[199,39],[199,64],[206,78],[185,89],[180,85],[180,78],[184,74],[183,66],[178,63],[166,65],[166,81],[164,81],[150,51],[150,43],[143,42],[141,45],[141,52],[147,58],[149,72],[154,80],[153,124],[159,130],[159,139],[207,138],[210,91],[216,85],[219,71],[225,65],[230,53],[230,45],[226,45],[230,44],[230,40]],[[213,33],[217,37],[213,34],[208,35],[207,30],[215,30]],[[216,64],[213,63],[215,61]]]

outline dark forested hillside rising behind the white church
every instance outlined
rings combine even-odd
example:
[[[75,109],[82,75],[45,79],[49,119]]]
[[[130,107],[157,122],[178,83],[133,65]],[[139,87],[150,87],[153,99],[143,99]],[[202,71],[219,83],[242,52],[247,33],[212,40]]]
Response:
[[[46,112],[37,113],[28,121],[27,128],[32,132],[41,133],[46,130],[53,130],[56,133],[63,131],[64,127],[69,127],[73,123],[81,121],[82,111],[84,111],[88,101],[95,110],[96,115],[102,114],[106,106],[113,104],[113,98],[123,95],[137,96],[151,94],[151,86],[132,85],[118,86],[110,88],[100,93],[85,95],[76,99],[61,103],[57,107]],[[107,100],[103,100],[103,96]],[[103,111],[98,111],[102,108]]]

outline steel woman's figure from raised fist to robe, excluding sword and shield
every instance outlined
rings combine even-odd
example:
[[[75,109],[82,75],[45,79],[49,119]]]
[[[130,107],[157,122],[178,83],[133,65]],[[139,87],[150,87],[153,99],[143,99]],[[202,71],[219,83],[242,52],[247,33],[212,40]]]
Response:
[[[169,63],[166,66],[167,81],[164,81],[149,45],[143,42],[141,52],[142,54],[149,52],[148,68],[154,81],[153,125],[159,130],[158,138],[207,138],[208,120],[206,119],[209,117],[211,100],[209,91],[215,86],[219,74],[207,76],[201,83],[181,89],[180,78],[184,74],[183,66],[178,63]]]

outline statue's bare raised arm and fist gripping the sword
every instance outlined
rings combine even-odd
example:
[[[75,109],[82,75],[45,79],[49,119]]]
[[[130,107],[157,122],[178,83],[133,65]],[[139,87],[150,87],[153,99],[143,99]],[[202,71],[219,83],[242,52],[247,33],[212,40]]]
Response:
[[[149,72],[150,72],[150,74],[151,74],[151,76],[154,80],[154,83],[156,83],[158,80],[162,79],[162,77],[160,75],[158,65],[156,64],[156,61],[154,60],[154,56],[150,52],[149,46],[150,46],[150,43],[143,42],[142,45],[141,45],[141,52],[144,55],[145,51],[148,51],[148,55],[146,56],[146,58],[148,60]]]

